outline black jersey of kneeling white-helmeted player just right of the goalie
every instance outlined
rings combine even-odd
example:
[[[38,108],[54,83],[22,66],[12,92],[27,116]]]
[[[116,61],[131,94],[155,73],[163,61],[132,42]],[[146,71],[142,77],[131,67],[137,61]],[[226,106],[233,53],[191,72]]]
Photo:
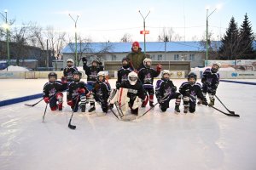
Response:
[[[157,99],[163,99],[167,95],[171,96],[176,92],[176,86],[174,86],[171,80],[158,80],[155,86],[155,95]],[[166,100],[169,98],[166,98]]]

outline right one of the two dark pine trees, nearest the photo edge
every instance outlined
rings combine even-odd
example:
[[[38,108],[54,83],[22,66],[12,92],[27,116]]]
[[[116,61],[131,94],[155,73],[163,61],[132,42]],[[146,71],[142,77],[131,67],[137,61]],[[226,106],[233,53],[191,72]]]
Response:
[[[240,47],[239,47],[239,49],[241,50],[240,54],[244,56],[244,58],[242,59],[247,59],[249,54],[253,54],[253,40],[254,40],[252,26],[248,20],[247,14],[245,14],[244,16],[239,37],[241,39]]]

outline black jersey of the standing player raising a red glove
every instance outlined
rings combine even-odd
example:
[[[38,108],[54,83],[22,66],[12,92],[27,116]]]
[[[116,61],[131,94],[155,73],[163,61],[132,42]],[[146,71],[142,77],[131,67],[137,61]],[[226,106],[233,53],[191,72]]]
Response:
[[[143,83],[143,88],[154,88],[154,77],[158,77],[159,75],[160,71],[155,71],[153,68],[143,67],[138,72],[138,78]]]

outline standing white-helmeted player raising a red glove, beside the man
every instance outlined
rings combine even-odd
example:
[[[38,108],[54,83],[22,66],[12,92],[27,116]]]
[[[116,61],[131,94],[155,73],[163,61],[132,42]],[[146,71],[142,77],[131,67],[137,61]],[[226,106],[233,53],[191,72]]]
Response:
[[[160,71],[162,65],[156,66],[156,71],[153,68],[150,68],[152,63],[151,59],[144,59],[143,60],[143,68],[138,72],[139,80],[143,83],[143,88],[145,89],[146,93],[146,100],[143,102],[142,107],[145,107],[148,103],[148,95],[149,95],[149,105],[154,107],[154,77],[158,77],[160,75]],[[148,94],[147,94],[148,93]]]

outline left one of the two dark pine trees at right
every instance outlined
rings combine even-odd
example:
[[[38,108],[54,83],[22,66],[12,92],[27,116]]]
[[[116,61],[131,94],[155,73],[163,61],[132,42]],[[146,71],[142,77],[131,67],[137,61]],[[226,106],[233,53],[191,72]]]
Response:
[[[239,31],[234,17],[230,20],[229,28],[221,40],[219,54],[221,59],[236,59],[239,55]]]

